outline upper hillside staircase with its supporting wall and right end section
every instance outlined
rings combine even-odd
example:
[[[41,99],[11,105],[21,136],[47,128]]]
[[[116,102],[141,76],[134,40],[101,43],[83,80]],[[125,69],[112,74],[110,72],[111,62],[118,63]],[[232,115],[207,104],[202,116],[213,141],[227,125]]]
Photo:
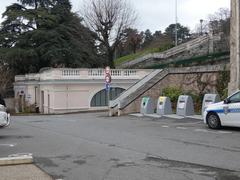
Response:
[[[151,53],[121,64],[120,68],[145,68],[196,56],[229,51],[229,38],[222,34],[204,35],[160,53]]]

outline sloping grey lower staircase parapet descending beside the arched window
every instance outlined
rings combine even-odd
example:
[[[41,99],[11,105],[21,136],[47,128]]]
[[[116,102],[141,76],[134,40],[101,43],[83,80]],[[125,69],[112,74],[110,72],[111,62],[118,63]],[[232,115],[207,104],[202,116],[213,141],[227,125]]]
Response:
[[[156,83],[168,75],[168,70],[157,69],[124,91],[117,99],[109,103],[109,116],[120,114],[119,110],[128,106],[137,97],[151,89]]]

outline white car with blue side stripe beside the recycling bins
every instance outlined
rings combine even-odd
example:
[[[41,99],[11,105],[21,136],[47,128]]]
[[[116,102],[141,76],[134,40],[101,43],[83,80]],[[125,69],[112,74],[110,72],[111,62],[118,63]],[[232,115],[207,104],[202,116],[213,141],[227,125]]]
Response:
[[[240,127],[240,91],[224,101],[210,104],[204,111],[204,123],[211,129],[221,126]]]

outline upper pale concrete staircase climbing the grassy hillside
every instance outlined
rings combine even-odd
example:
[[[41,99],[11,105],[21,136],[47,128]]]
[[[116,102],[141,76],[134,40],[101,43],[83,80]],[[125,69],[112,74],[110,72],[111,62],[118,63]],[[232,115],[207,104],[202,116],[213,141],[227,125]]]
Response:
[[[121,68],[136,67],[138,64],[144,63],[145,61],[149,61],[151,59],[155,59],[155,60],[169,59],[171,57],[177,56],[180,53],[188,52],[189,50],[200,47],[201,45],[203,46],[206,43],[209,43],[211,46],[212,43],[210,43],[210,40],[213,40],[214,38],[216,38],[216,37],[210,37],[209,35],[203,35],[201,37],[198,37],[189,42],[183,43],[177,47],[173,47],[164,52],[150,53],[145,56],[139,57],[135,60],[125,62],[125,63],[121,64],[119,67],[121,67]],[[209,49],[209,51],[211,51],[211,49],[212,49],[210,46],[207,47]]]

